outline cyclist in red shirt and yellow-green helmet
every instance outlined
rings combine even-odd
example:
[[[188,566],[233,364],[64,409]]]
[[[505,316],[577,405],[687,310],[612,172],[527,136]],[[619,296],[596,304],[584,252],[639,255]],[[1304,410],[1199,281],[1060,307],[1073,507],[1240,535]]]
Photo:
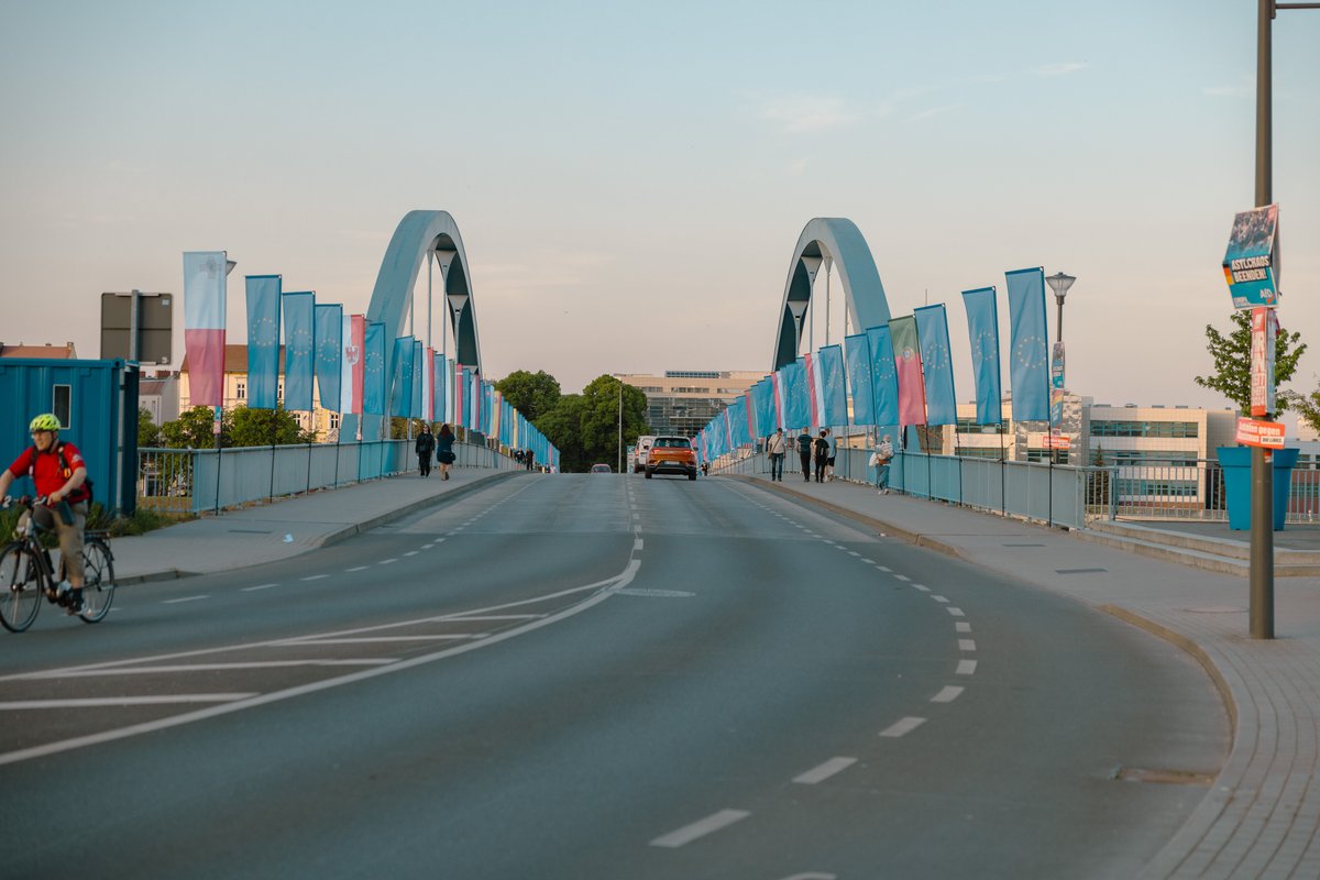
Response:
[[[15,459],[5,471],[0,471],[0,497],[8,495],[9,484],[20,476],[30,476],[37,486],[37,495],[46,497],[46,507],[33,508],[32,515],[42,529],[55,529],[59,536],[59,557],[65,561],[65,582],[59,591],[71,590],[69,613],[82,611],[83,587],[83,526],[87,522],[87,497],[90,492],[83,486],[87,480],[87,463],[73,443],[59,442],[59,420],[51,413],[42,413],[32,420],[28,430],[32,433],[32,446]],[[55,516],[61,503],[67,503],[70,521]],[[24,512],[18,520],[25,525]]]

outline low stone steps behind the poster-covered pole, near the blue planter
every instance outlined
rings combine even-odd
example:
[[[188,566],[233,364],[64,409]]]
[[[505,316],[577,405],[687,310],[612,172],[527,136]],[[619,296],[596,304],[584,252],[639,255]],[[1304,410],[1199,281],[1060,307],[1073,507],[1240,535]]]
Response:
[[[1184,532],[1156,529],[1122,521],[1096,521],[1072,532],[1074,537],[1130,553],[1167,559],[1181,565],[1249,577],[1251,545],[1247,541],[1205,538]],[[1320,575],[1320,551],[1274,549],[1275,578],[1309,578]]]

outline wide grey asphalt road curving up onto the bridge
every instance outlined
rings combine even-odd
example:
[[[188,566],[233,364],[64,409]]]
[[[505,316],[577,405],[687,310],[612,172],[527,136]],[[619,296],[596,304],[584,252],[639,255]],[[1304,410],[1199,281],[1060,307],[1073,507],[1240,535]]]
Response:
[[[1166,643],[741,483],[235,566],[0,640],[0,875],[1130,876],[1228,748]]]

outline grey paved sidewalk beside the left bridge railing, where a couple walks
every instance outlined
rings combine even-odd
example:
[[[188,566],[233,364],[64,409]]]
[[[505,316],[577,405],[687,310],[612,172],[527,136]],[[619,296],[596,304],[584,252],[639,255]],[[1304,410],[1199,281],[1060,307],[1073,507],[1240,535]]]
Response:
[[[429,478],[412,471],[114,538],[115,581],[143,583],[286,559],[397,520],[441,496],[457,497],[527,472],[454,468],[442,480],[438,470]]]

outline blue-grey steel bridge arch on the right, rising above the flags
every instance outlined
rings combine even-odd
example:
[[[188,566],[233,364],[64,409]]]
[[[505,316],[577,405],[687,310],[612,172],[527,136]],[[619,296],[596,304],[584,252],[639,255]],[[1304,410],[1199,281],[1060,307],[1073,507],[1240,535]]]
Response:
[[[788,281],[784,284],[771,371],[797,359],[803,329],[800,318],[793,315],[793,306],[800,309],[799,315],[805,314],[807,306],[810,305],[816,273],[826,260],[838,268],[845,303],[853,315],[853,327],[858,330],[875,327],[890,319],[884,285],[880,284],[880,273],[875,268],[871,248],[867,247],[862,231],[846,218],[814,218],[797,236],[793,259],[788,264]]]

